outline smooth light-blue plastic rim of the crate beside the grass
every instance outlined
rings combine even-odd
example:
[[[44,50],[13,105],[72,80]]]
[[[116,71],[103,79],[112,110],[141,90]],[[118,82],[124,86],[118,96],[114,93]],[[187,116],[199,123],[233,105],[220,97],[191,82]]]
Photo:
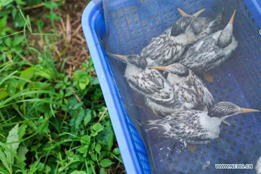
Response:
[[[110,73],[108,67],[105,65],[105,59],[102,52],[99,39],[95,31],[95,17],[94,15],[100,15],[99,10],[93,2],[90,2],[82,14],[82,28],[84,31],[84,36],[92,55],[93,64],[97,73],[97,77],[102,88],[102,93],[108,108],[110,119],[115,131],[115,136],[119,145],[119,149],[122,155],[122,160],[124,162],[125,169],[127,173],[142,173],[139,167],[139,160],[135,154],[134,146],[131,141],[131,135],[128,132],[128,126],[124,120],[124,113],[119,104],[117,98],[117,88],[110,78]],[[131,160],[130,160],[131,159]]]

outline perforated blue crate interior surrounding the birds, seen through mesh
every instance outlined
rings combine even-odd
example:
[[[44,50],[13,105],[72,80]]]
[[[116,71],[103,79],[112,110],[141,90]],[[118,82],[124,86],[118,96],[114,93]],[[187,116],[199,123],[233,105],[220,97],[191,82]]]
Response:
[[[245,108],[260,109],[259,0],[119,0],[103,1],[103,7],[106,7],[103,9],[106,30],[104,34],[101,29],[96,30],[103,46],[102,51],[119,55],[138,54],[153,37],[170,28],[181,17],[178,7],[187,14],[206,8],[201,15],[212,18],[224,7],[225,21],[229,20],[236,9],[233,35],[238,41],[238,47],[231,57],[213,69],[213,83],[204,79],[202,81],[213,95],[215,103],[229,101]],[[166,142],[168,140],[155,136],[155,132],[148,133],[139,126],[149,117],[149,113],[137,106],[139,96],[133,96],[134,92],[126,84],[126,64],[110,57],[107,63],[119,90],[118,99],[126,114],[122,117],[128,126],[128,134],[132,137],[142,173],[255,173],[255,164],[261,156],[260,114],[241,114],[227,118],[226,121],[231,125],[220,125],[220,137],[210,144],[198,146],[192,153],[183,150],[182,144],[171,145],[171,142]],[[216,169],[215,164],[253,164],[253,169]]]

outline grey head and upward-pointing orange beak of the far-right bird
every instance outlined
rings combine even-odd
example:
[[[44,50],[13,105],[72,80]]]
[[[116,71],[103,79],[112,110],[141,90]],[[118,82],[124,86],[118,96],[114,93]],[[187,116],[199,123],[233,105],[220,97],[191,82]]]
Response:
[[[220,36],[218,37],[218,46],[220,48],[227,47],[231,41],[232,41],[232,30],[233,30],[233,21],[235,17],[235,12],[232,14],[231,19],[229,20],[229,23],[226,25],[226,27],[221,31]]]

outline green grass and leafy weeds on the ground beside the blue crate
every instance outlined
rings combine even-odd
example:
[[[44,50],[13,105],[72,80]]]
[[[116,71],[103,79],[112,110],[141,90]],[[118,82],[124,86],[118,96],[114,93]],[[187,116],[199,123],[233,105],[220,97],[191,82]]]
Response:
[[[87,3],[0,0],[0,173],[125,173],[81,30]]]

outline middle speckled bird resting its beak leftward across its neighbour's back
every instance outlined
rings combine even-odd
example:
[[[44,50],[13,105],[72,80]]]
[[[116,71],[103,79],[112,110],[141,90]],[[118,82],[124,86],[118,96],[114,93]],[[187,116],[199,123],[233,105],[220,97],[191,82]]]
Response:
[[[209,90],[186,66],[171,64],[151,68],[168,72],[166,80],[174,89],[174,95],[184,101],[187,109],[207,110],[213,105],[214,99]]]

